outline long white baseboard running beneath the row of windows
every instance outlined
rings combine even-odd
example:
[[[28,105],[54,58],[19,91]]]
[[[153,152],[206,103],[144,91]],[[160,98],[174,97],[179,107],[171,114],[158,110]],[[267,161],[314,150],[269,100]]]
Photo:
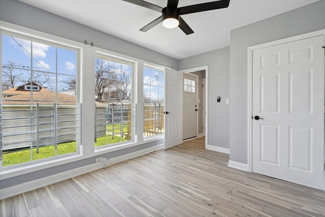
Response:
[[[66,179],[69,179],[69,178],[72,178],[72,177],[75,177],[78,175],[82,175],[84,173],[91,172],[91,171],[103,168],[103,167],[111,165],[111,164],[116,164],[121,161],[136,158],[136,157],[142,156],[144,154],[147,154],[147,153],[150,153],[152,151],[159,150],[162,148],[164,148],[164,144],[155,145],[150,148],[145,148],[145,149],[142,149],[139,151],[135,151],[132,153],[124,154],[124,155],[116,157],[116,158],[109,159],[105,162],[94,163],[91,165],[79,167],[79,168],[65,171],[62,173],[57,173],[54,175],[46,176],[44,178],[28,181],[28,182],[25,182],[22,184],[17,184],[17,185],[14,185],[14,186],[6,188],[6,189],[1,189],[0,190],[0,200],[6,199],[9,197],[18,195],[18,194],[22,194],[25,192],[29,192],[29,191],[32,191],[32,190],[35,190],[38,188],[42,188],[42,187],[45,187],[46,185],[53,184],[55,182],[59,182],[62,180],[66,180]]]

